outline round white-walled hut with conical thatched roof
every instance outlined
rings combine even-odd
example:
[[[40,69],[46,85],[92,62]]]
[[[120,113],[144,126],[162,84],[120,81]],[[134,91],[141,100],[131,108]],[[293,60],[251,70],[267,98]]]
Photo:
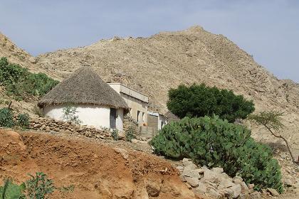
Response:
[[[122,130],[129,110],[122,97],[90,67],[82,67],[38,102],[45,117],[65,120],[65,108],[75,107],[81,124]]]

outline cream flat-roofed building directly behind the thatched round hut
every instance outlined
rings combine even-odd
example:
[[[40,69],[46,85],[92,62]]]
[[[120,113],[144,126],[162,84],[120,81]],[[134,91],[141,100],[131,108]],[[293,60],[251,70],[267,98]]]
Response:
[[[108,85],[125,99],[130,108],[130,117],[138,123],[139,127],[147,126],[149,97],[121,83],[108,83]]]

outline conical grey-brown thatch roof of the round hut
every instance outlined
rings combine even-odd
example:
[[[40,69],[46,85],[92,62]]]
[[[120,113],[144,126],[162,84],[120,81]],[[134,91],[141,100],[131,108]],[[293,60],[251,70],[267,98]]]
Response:
[[[129,109],[125,100],[88,66],[75,70],[43,96],[38,107],[53,104],[96,104]]]

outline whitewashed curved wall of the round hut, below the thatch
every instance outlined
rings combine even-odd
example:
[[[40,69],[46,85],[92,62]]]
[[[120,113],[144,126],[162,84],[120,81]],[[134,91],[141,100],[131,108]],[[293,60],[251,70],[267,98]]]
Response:
[[[63,105],[48,106],[43,109],[43,114],[46,117],[50,117],[56,120],[63,119]],[[88,125],[90,127],[95,127],[100,129],[100,127],[110,128],[110,107],[98,106],[98,105],[77,105],[78,119],[83,125]],[[123,109],[117,109],[116,118],[116,128],[122,130],[123,128]]]

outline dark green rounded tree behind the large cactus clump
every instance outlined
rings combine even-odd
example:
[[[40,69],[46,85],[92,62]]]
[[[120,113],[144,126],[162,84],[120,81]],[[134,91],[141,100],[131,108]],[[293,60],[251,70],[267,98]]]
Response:
[[[219,90],[206,85],[179,85],[177,89],[168,92],[169,111],[179,118],[204,117],[219,115],[221,119],[234,122],[235,119],[245,119],[254,111],[252,101],[244,99],[243,95],[234,95],[231,90]]]

